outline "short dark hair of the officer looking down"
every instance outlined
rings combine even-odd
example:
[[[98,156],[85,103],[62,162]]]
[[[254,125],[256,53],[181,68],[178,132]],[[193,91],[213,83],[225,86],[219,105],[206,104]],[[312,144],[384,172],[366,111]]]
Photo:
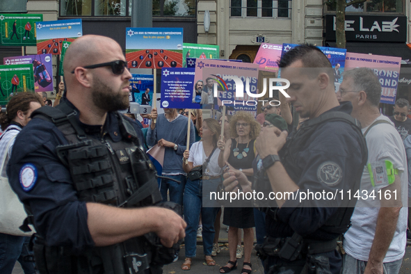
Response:
[[[316,67],[317,70],[303,70],[311,76],[317,76],[321,72],[328,74],[330,79],[334,79],[334,72],[332,72],[332,65],[327,56],[318,47],[310,44],[302,44],[287,51],[281,56],[278,62],[278,67],[288,67],[291,63],[301,61],[303,67]]]

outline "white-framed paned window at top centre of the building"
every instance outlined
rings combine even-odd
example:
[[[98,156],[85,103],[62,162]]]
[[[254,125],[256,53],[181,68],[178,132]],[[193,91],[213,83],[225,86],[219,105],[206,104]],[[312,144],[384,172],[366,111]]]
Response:
[[[231,0],[231,17],[291,17],[289,0]]]

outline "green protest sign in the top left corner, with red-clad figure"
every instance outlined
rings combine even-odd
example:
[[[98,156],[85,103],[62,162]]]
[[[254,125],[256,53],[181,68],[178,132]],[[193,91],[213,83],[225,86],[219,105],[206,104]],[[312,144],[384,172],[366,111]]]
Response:
[[[0,14],[0,45],[35,46],[37,36],[36,22],[41,22],[43,15],[35,14]]]

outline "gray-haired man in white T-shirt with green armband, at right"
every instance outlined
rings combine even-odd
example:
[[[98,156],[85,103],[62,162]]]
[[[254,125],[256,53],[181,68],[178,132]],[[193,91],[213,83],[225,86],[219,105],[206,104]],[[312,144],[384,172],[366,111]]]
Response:
[[[366,138],[368,161],[361,193],[377,196],[357,202],[344,234],[343,273],[396,274],[405,254],[407,230],[408,169],[403,141],[394,124],[380,114],[381,86],[371,69],[344,72],[337,97],[353,104],[351,115],[360,120]]]

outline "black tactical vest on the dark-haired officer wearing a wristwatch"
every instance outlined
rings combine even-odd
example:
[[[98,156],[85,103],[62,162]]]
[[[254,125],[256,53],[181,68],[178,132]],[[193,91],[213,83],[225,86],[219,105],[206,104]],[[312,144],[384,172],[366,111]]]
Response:
[[[368,150],[366,148],[364,136],[362,135],[360,122],[346,113],[333,111],[330,113],[324,113],[318,118],[307,120],[303,123],[300,129],[296,131],[295,134],[287,138],[287,143],[281,150],[280,157],[284,168],[287,170],[287,173],[293,180],[293,182],[298,182],[303,172],[303,169],[300,168],[297,164],[296,156],[298,155],[298,152],[300,152],[303,147],[306,147],[309,137],[312,136],[312,134],[315,134],[318,127],[321,124],[328,122],[345,122],[350,125],[350,127],[360,138],[360,147],[362,150],[361,164],[362,166],[365,166],[368,158]],[[364,168],[358,169],[356,174],[356,178],[358,179],[355,181],[352,189],[360,188],[361,175],[363,170]],[[255,184],[257,184],[257,188],[261,189],[262,191],[267,191],[268,187],[270,188],[269,191],[272,191],[268,176],[266,175],[266,172],[264,172],[264,170],[258,173],[257,181],[255,181]],[[332,239],[333,234],[344,234],[348,230],[350,226],[350,218],[353,215],[355,208],[355,200],[346,199],[342,202],[344,202],[344,206],[339,207],[337,212],[333,216],[328,218],[324,225],[317,229],[314,234],[309,235],[310,237],[313,237],[314,239],[324,239],[325,241],[329,241]],[[260,204],[259,207],[264,207],[264,204]],[[262,211],[266,212],[274,220],[276,220],[276,208],[263,208]]]

